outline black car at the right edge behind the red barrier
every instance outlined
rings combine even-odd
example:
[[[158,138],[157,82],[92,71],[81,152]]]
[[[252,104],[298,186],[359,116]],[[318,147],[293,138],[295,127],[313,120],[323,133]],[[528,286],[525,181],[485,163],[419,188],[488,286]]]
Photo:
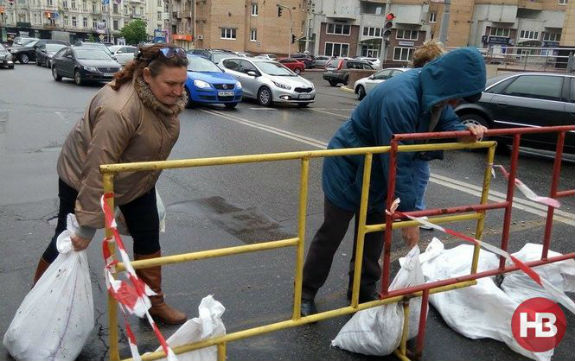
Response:
[[[491,78],[481,99],[455,112],[464,123],[490,129],[575,124],[575,76],[551,73],[506,74]],[[512,136],[500,138],[504,143]],[[553,151],[556,133],[524,134],[521,146]],[[565,137],[565,153],[575,154],[575,132]]]

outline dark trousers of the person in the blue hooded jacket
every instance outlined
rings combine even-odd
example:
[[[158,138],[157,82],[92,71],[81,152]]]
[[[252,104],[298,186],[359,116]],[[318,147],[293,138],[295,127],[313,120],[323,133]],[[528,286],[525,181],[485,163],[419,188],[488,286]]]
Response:
[[[341,241],[349,227],[349,222],[353,216],[354,212],[340,209],[325,199],[324,221],[311,241],[303,268],[303,299],[314,299],[317,291],[325,283],[335,252],[341,244]],[[355,216],[353,256],[349,265],[348,287],[350,290],[353,284],[355,245],[359,223],[358,214],[355,214]],[[367,224],[378,224],[383,222],[383,212],[368,213]],[[361,266],[360,298],[369,297],[369,295],[375,292],[376,283],[381,277],[379,258],[382,250],[383,232],[374,232],[365,235],[363,262]]]

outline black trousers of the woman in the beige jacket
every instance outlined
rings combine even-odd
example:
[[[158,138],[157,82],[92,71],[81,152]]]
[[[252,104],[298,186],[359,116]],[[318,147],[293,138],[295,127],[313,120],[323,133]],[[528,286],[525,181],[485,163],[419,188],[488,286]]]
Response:
[[[59,179],[58,197],[60,198],[58,224],[50,244],[42,255],[42,258],[48,263],[52,263],[58,256],[56,239],[66,229],[66,216],[69,213],[74,213],[78,192]],[[159,251],[160,221],[156,204],[156,189],[152,188],[139,198],[120,206],[120,209],[134,240],[134,253],[147,255]]]

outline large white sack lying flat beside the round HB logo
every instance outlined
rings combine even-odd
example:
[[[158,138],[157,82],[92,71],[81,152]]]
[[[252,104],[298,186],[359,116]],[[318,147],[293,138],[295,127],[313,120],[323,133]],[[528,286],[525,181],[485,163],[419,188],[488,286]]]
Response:
[[[423,274],[426,282],[469,274],[473,255],[472,245],[461,245],[437,252],[438,239],[432,241],[431,255],[422,253]],[[517,253],[514,256],[518,255]],[[539,248],[539,255],[541,249]],[[520,257],[518,257],[520,258]],[[522,257],[523,260],[527,260]],[[499,258],[490,252],[479,253],[478,272],[499,266]],[[539,268],[538,268],[539,271]],[[536,296],[532,296],[536,297]],[[528,297],[531,298],[531,297]],[[521,347],[511,331],[511,317],[519,302],[497,287],[492,278],[480,278],[475,286],[440,292],[430,296],[431,304],[444,321],[455,331],[471,339],[492,338],[502,341],[513,351],[534,360],[549,361],[553,350],[534,353]]]

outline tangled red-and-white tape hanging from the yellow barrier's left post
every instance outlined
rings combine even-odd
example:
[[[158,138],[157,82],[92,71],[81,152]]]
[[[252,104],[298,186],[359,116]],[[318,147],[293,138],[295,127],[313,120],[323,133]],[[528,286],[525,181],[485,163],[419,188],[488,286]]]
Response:
[[[160,332],[160,329],[150,316],[148,309],[151,306],[150,299],[148,296],[153,296],[156,293],[146,285],[144,281],[138,278],[136,275],[136,271],[130,262],[130,257],[126,252],[126,248],[124,247],[124,242],[122,242],[122,238],[120,237],[120,233],[117,229],[116,220],[114,219],[114,212],[110,209],[110,206],[106,202],[106,199],[112,198],[113,194],[106,193],[100,199],[100,204],[104,211],[104,218],[106,221],[106,226],[112,229],[113,239],[112,238],[105,238],[103,242],[103,254],[104,254],[104,273],[106,278],[106,287],[108,288],[108,292],[120,305],[120,309],[124,315],[124,321],[126,325],[126,334],[128,335],[128,342],[130,344],[130,351],[132,353],[132,358],[135,361],[140,361],[140,353],[138,351],[138,346],[136,343],[136,337],[130,328],[130,324],[128,322],[127,314],[134,314],[138,317],[146,317],[150,326],[154,330],[158,341],[160,341],[160,345],[162,346],[162,350],[167,355],[168,361],[177,361],[177,357],[172,351],[172,349],[168,346],[164,336]],[[118,263],[117,260],[114,259],[112,256],[110,249],[114,246],[114,240],[116,245],[118,246],[118,253],[120,254],[120,258],[126,270],[127,279],[130,281],[129,283],[125,280],[117,280],[114,278],[113,273],[115,272],[115,266]]]

